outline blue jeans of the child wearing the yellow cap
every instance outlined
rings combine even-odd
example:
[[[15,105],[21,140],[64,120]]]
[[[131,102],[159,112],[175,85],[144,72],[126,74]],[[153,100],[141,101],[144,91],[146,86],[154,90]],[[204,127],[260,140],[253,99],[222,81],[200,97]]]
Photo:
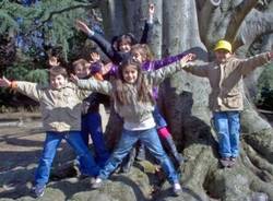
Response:
[[[217,111],[213,114],[213,120],[218,135],[221,156],[237,157],[240,142],[239,111]]]

